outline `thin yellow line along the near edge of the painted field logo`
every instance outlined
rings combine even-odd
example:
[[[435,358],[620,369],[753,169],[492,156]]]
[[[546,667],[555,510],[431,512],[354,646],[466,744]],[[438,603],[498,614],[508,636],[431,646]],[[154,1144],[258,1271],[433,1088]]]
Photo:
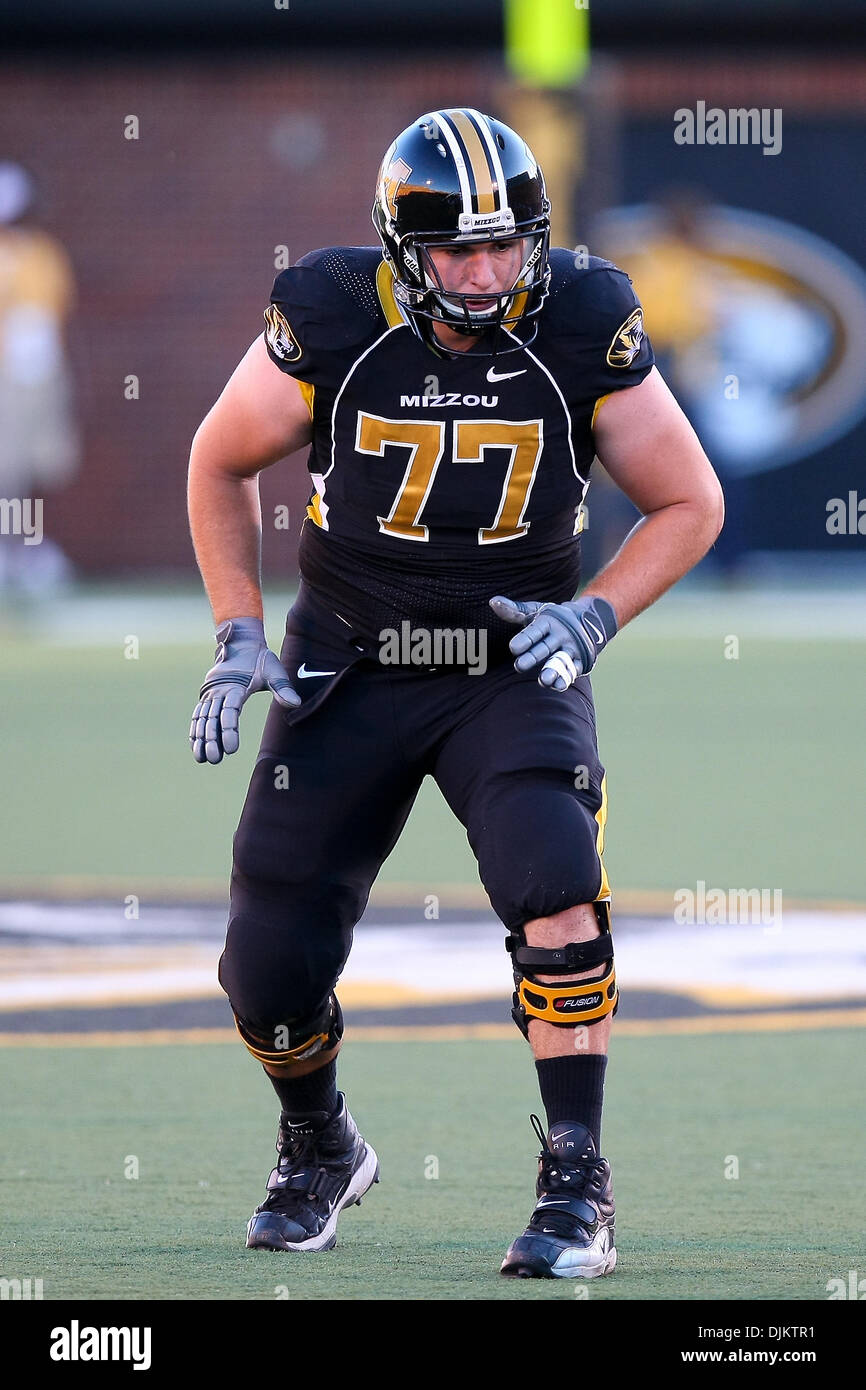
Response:
[[[803,1013],[720,1013],[701,1019],[638,1019],[617,1023],[619,1037],[666,1037],[687,1033],[781,1033],[808,1029],[866,1027],[866,1009],[812,1009]],[[395,1027],[353,1027],[359,1042],[464,1042],[475,1038],[517,1040],[510,1023],[446,1023]],[[238,1044],[234,1029],[153,1029],[120,1033],[6,1033],[0,1047],[172,1047],[188,1042]]]

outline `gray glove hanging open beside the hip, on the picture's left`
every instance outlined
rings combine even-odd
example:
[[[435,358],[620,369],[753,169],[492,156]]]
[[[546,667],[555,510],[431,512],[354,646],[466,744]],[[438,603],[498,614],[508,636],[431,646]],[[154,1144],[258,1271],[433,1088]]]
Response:
[[[300,705],[279,657],[268,651],[260,617],[227,619],[217,628],[217,644],[189,726],[189,745],[197,763],[218,763],[222,753],[238,752],[238,719],[256,691],[272,691],[286,709]]]

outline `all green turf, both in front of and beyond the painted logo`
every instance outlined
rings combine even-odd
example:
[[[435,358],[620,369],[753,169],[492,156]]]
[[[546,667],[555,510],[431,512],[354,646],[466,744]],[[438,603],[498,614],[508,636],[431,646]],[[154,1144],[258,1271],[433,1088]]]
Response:
[[[157,610],[147,630],[133,598],[126,616],[115,596],[88,645],[33,639],[24,623],[4,632],[6,895],[36,885],[118,901],[225,898],[267,699],[246,706],[235,758],[193,763],[207,610],[199,603],[189,641],[168,641],[158,595],[146,595]],[[737,595],[714,603],[706,616],[659,606],[594,674],[614,894],[670,895],[702,878],[780,887],[785,903],[866,902],[856,631],[803,641],[796,595],[778,631],[766,609],[749,626]],[[271,600],[274,645],[278,630]],[[142,632],[138,660],[124,659],[131,631]],[[730,634],[741,637],[735,660]],[[428,892],[443,906],[480,892],[432,784],[379,884],[407,910]],[[382,1183],[342,1218],[336,1251],[296,1259],[243,1247],[275,1104],[238,1042],[7,1047],[0,1276],[42,1277],[46,1300],[573,1300],[581,1289],[596,1301],[826,1300],[830,1279],[863,1268],[862,1108],[851,1094],[862,1037],[614,1030],[603,1150],[620,1266],[589,1286],[498,1276],[534,1200],[528,1113],[539,1101],[516,1033],[352,1041],[341,1084]],[[131,1156],[136,1179],[125,1176]],[[439,1176],[428,1179],[432,1158]],[[726,1177],[733,1159],[738,1176]]]

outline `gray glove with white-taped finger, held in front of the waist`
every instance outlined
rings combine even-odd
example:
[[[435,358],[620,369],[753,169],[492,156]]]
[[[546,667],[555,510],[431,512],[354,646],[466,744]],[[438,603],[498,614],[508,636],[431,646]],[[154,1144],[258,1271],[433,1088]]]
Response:
[[[616,637],[617,620],[607,599],[574,599],[570,603],[516,603],[496,596],[491,607],[506,623],[521,623],[523,632],[509,642],[517,657],[516,671],[541,666],[539,685],[567,691],[578,676],[588,676],[598,655]]]

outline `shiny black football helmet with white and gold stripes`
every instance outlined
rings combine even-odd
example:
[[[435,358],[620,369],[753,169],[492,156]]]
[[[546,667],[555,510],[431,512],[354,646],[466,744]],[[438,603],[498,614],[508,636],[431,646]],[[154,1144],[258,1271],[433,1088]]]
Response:
[[[470,107],[418,117],[389,147],[373,203],[393,293],[418,338],[436,352],[434,324],[480,336],[477,356],[516,352],[532,342],[538,324],[520,341],[510,331],[538,314],[550,282],[550,203],[544,175],[527,143],[489,115]],[[523,240],[521,267],[507,291],[481,297],[446,291],[431,247]]]

